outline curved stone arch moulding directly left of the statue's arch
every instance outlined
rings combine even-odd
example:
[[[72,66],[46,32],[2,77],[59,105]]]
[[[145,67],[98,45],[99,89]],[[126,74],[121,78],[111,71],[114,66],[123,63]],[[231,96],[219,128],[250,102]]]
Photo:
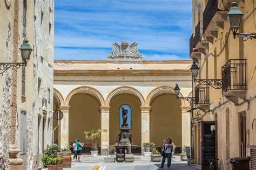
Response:
[[[103,95],[97,89],[90,86],[81,86],[71,90],[69,95],[66,97],[65,105],[69,105],[69,101],[73,95],[82,93],[95,97],[99,105],[105,105]]]

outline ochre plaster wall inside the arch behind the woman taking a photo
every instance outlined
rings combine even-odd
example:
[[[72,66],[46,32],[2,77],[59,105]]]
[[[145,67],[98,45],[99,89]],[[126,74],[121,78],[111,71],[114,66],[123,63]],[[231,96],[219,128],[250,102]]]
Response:
[[[177,147],[182,145],[181,102],[172,94],[157,97],[151,104],[150,141],[160,146],[172,138]]]

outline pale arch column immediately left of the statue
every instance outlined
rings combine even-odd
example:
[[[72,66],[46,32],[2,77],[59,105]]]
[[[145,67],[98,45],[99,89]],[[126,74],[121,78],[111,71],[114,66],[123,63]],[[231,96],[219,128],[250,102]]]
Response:
[[[109,109],[110,106],[100,107],[101,112],[101,155],[107,155],[109,147]]]

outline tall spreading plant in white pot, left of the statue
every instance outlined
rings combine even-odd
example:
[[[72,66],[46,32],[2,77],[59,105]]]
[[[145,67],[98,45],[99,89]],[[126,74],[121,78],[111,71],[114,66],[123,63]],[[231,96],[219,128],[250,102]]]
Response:
[[[95,129],[95,130],[91,130],[88,132],[84,132],[85,133],[85,139],[90,139],[92,140],[92,151],[91,151],[91,155],[92,157],[97,157],[98,155],[98,147],[97,147],[97,141],[96,138],[100,137],[100,129]]]

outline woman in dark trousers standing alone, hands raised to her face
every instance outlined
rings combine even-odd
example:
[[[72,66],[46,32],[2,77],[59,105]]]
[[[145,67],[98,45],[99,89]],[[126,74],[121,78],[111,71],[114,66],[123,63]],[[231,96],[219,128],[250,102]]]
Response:
[[[172,139],[167,138],[164,140],[162,144],[163,150],[162,150],[162,162],[161,162],[161,167],[164,167],[165,159],[167,158],[167,167],[170,168],[171,162],[172,162]]]

